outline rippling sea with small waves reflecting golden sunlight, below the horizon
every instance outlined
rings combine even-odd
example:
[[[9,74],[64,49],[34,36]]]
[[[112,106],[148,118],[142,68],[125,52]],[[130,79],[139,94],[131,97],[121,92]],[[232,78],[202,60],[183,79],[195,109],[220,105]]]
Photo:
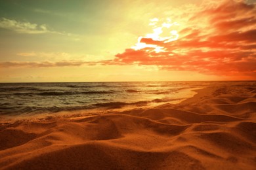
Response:
[[[28,116],[54,114],[60,111],[136,108],[161,103],[179,103],[182,99],[192,97],[195,94],[192,90],[227,83],[1,83],[0,116]]]

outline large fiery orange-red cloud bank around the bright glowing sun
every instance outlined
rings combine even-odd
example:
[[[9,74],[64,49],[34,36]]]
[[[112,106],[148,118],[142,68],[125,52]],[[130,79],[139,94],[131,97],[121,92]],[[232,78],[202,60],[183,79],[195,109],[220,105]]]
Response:
[[[256,78],[256,4],[229,0],[190,8],[179,9],[183,18],[177,22],[152,19],[153,33],[140,36],[135,46],[102,64]]]

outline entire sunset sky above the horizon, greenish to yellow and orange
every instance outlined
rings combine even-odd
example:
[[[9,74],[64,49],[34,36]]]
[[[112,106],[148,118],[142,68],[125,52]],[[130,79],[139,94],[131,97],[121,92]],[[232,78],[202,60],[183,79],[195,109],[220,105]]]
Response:
[[[256,80],[255,0],[0,0],[0,82]]]

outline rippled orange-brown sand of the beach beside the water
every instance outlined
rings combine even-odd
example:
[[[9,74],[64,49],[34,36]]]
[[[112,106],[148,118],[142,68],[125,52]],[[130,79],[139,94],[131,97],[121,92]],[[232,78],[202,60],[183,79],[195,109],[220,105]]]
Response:
[[[182,103],[0,126],[0,169],[256,169],[256,88]]]

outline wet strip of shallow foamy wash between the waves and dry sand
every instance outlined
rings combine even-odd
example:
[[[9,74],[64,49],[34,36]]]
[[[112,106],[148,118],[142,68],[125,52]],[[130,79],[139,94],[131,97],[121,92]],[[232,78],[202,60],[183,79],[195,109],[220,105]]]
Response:
[[[179,92],[179,96],[187,96],[186,99],[176,98],[169,99],[169,101],[164,101],[163,99],[154,99],[153,101],[137,101],[134,103],[112,103],[111,105],[106,105],[106,103],[98,103],[98,107],[94,109],[74,109],[74,110],[61,110],[58,112],[46,112],[46,113],[35,113],[35,114],[20,114],[16,116],[12,115],[3,115],[0,117],[0,124],[9,124],[22,121],[40,121],[47,120],[48,118],[72,118],[72,116],[91,116],[91,115],[100,115],[108,114],[111,112],[123,112],[133,109],[151,109],[153,107],[158,107],[165,105],[166,103],[179,104],[187,99],[190,99],[196,95],[196,91],[202,88],[184,88]],[[145,103],[147,102],[147,103]],[[102,105],[102,106],[101,106]],[[106,105],[106,106],[104,106]]]

